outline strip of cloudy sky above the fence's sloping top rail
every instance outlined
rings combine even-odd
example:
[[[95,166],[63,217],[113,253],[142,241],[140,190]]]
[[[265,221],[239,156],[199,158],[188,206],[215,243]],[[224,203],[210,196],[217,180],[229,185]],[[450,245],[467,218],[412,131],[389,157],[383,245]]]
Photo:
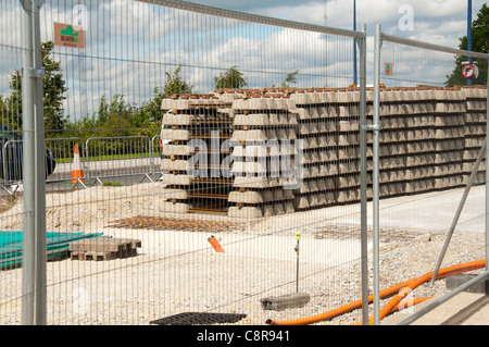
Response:
[[[353,28],[353,0],[193,0],[191,2],[250,12],[290,21]],[[358,0],[356,25],[376,24],[383,32],[457,48],[459,38],[467,34],[465,0]],[[473,20],[486,0],[472,0]],[[412,25],[404,21],[412,14]],[[399,22],[402,22],[401,25]]]

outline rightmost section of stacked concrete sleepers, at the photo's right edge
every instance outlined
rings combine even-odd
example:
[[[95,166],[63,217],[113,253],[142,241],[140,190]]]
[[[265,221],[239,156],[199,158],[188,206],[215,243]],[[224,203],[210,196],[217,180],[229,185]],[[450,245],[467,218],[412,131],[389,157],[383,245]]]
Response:
[[[463,176],[464,183],[466,183],[486,138],[487,90],[477,87],[464,87],[462,92],[466,102],[465,146],[463,151]],[[486,182],[486,156],[484,156],[474,184]]]

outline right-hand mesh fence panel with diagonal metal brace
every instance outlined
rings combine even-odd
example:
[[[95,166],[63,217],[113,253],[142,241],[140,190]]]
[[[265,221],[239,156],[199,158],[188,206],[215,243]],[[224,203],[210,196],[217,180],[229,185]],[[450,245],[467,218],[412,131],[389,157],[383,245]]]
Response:
[[[426,297],[446,295],[444,281],[437,278],[453,273],[455,264],[477,262],[471,270],[479,272],[485,268],[488,88],[487,79],[467,86],[462,75],[466,55],[487,66],[488,54],[404,39],[376,27],[371,323],[380,324],[386,308],[400,299],[409,309],[386,324],[405,320]],[[430,272],[418,287],[380,297],[381,290]]]

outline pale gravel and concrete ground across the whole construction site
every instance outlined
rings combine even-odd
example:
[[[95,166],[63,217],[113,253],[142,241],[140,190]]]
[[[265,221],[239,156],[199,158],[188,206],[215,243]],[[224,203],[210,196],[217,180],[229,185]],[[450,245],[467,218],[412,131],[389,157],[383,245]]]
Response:
[[[267,319],[317,314],[328,307],[341,307],[361,297],[360,282],[352,283],[351,277],[351,273],[356,277],[360,273],[360,267],[355,265],[347,268],[338,276],[330,272],[326,273],[326,277],[324,274],[303,277],[301,287],[308,288],[308,294],[311,294],[311,302],[303,308],[285,311],[266,311],[260,308],[260,299],[277,284],[289,283],[284,287],[286,294],[296,289],[296,231],[303,232],[301,274],[309,270],[315,273],[323,269],[339,268],[359,259],[358,205],[255,221],[233,221],[223,215],[192,213],[178,218],[174,215],[175,219],[172,220],[168,215],[165,219],[149,213],[146,215],[146,212],[158,210],[158,199],[148,197],[158,197],[159,187],[158,183],[149,183],[135,185],[137,194],[131,187],[93,187],[47,196],[49,230],[102,232],[105,236],[141,240],[137,257],[102,262],[70,259],[50,262],[49,278],[55,284],[49,286],[50,294],[53,294],[48,301],[50,324],[149,324],[152,320],[172,314],[209,308],[214,310],[223,302],[235,301],[236,305],[239,303],[239,307],[234,308],[237,313],[247,314],[237,324],[265,324]],[[463,191],[463,188],[456,188],[380,200],[380,289],[434,270]],[[22,199],[18,199],[8,211],[12,223],[10,228],[18,230],[22,225]],[[372,202],[368,203],[367,212],[368,260],[372,263]],[[181,224],[183,220],[186,221],[185,225]],[[205,224],[205,221],[212,222]],[[151,226],[151,223],[155,225]],[[484,234],[485,186],[480,185],[473,187],[468,195],[442,267],[482,259]],[[208,241],[211,235],[221,241],[226,251],[224,255],[213,251]],[[287,247],[281,247],[283,245]],[[315,251],[322,256],[313,257]],[[21,274],[22,269],[11,270],[9,277],[2,282],[4,295],[10,295],[11,288],[21,288],[22,275],[16,276],[17,272]],[[371,267],[371,281],[372,272]],[[176,273],[181,273],[184,277],[176,276]],[[195,282],[188,282],[190,278]],[[124,292],[127,285],[130,290]],[[227,285],[230,287],[227,288]],[[96,287],[98,289],[93,290],[97,296],[89,292],[92,300],[87,307],[87,313],[66,318],[66,310],[71,310],[73,303],[71,293],[78,287],[87,290]],[[372,285],[369,287],[372,294]],[[121,302],[114,301],[114,288],[117,288],[116,293],[124,289]],[[446,292],[443,282],[437,282],[436,290],[426,285],[419,289],[416,289],[416,297],[431,296],[435,292],[434,299]],[[330,301],[333,290],[337,290],[341,298],[338,302],[334,301],[334,305]],[[63,295],[55,295],[58,292]],[[70,295],[66,296],[66,293]],[[12,295],[15,296],[15,292]],[[186,299],[187,297],[192,300]],[[453,312],[464,310],[479,297],[480,294],[462,293],[414,324],[440,325],[452,318]],[[215,302],[212,301],[214,299]],[[384,299],[383,306],[386,300],[389,299]],[[5,325],[18,323],[20,300],[12,302],[18,305],[12,306],[9,302],[2,307],[1,320]],[[397,324],[405,320],[411,310],[415,312],[429,302],[430,300],[389,315],[381,324]],[[162,305],[166,305],[165,311],[153,313],[152,310]],[[103,311],[100,311],[101,308]],[[226,312],[229,309],[230,307],[223,307]],[[136,315],[127,312],[135,312]],[[346,325],[356,323],[359,317],[359,310],[355,310],[350,315],[344,314],[318,324]],[[487,308],[482,306],[478,313],[461,324],[488,323]]]

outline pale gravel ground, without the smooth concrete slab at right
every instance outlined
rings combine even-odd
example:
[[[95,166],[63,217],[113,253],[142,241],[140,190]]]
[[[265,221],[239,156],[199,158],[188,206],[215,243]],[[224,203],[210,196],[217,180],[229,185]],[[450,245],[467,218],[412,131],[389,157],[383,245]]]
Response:
[[[151,324],[184,312],[242,313],[234,324],[263,325],[329,311],[361,298],[358,213],[346,206],[260,221],[213,221],[215,227],[184,228],[133,225],[114,221],[135,215],[170,218],[160,211],[158,183],[131,187],[92,187],[47,196],[47,228],[103,233],[137,238],[136,257],[110,261],[64,259],[48,263],[49,324]],[[3,230],[22,227],[22,196],[1,214]],[[175,218],[175,215],[172,215]],[[234,224],[224,224],[233,222]],[[299,292],[310,295],[301,308],[264,310],[261,299],[296,293],[296,232],[301,232]],[[208,237],[216,236],[225,253]],[[369,235],[372,236],[372,235]],[[444,231],[380,231],[380,289],[432,271],[446,239]],[[372,240],[372,239],[371,239]],[[455,233],[443,267],[482,259],[480,232]],[[372,293],[372,249],[369,250]],[[0,273],[0,324],[21,323],[22,269]],[[444,280],[422,285],[413,297],[440,296]],[[390,299],[390,298],[389,298]],[[384,306],[389,299],[381,301]],[[408,313],[396,313],[403,317]],[[346,325],[361,320],[361,310],[316,324]],[[203,322],[205,323],[205,322]]]

